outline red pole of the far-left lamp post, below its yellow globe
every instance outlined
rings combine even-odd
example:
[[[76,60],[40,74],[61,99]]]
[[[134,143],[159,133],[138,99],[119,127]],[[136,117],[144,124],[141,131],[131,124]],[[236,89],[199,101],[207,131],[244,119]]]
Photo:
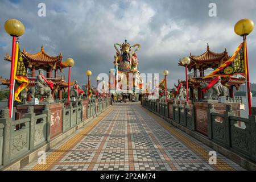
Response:
[[[13,86],[14,86],[14,60],[15,60],[15,43],[16,37],[13,36],[13,48],[11,52],[11,73],[10,73],[10,89],[9,89],[9,118],[13,115]]]

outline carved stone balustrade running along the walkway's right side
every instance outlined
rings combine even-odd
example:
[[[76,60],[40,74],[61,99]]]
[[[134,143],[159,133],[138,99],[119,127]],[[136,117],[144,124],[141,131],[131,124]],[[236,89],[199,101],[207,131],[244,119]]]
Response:
[[[214,104],[192,104],[184,100],[168,100],[166,104],[159,100],[143,100],[142,106],[192,136],[197,133],[207,137],[211,142],[256,162],[256,107],[252,107],[253,115],[242,118],[239,99]]]

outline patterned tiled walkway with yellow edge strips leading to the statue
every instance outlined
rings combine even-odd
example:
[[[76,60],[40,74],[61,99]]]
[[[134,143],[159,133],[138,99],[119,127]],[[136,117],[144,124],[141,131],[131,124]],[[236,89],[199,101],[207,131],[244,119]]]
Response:
[[[115,104],[23,170],[243,170],[139,104]]]

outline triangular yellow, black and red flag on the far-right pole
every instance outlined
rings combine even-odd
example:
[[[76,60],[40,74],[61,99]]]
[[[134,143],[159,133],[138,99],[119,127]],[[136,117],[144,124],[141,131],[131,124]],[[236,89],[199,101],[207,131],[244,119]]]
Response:
[[[246,42],[241,43],[233,56],[228,61],[222,64],[220,67],[215,69],[212,73],[205,76],[204,78],[216,77],[216,76],[233,76],[243,75],[246,77]]]

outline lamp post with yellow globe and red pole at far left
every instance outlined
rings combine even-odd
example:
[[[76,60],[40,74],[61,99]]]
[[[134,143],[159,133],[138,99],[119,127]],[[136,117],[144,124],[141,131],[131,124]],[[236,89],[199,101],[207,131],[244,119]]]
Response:
[[[5,22],[5,31],[13,37],[13,45],[11,51],[11,73],[10,73],[10,88],[9,88],[9,118],[13,117],[13,93],[14,93],[14,60],[15,60],[15,42],[16,38],[22,36],[25,27],[22,22],[17,19],[8,19]]]

